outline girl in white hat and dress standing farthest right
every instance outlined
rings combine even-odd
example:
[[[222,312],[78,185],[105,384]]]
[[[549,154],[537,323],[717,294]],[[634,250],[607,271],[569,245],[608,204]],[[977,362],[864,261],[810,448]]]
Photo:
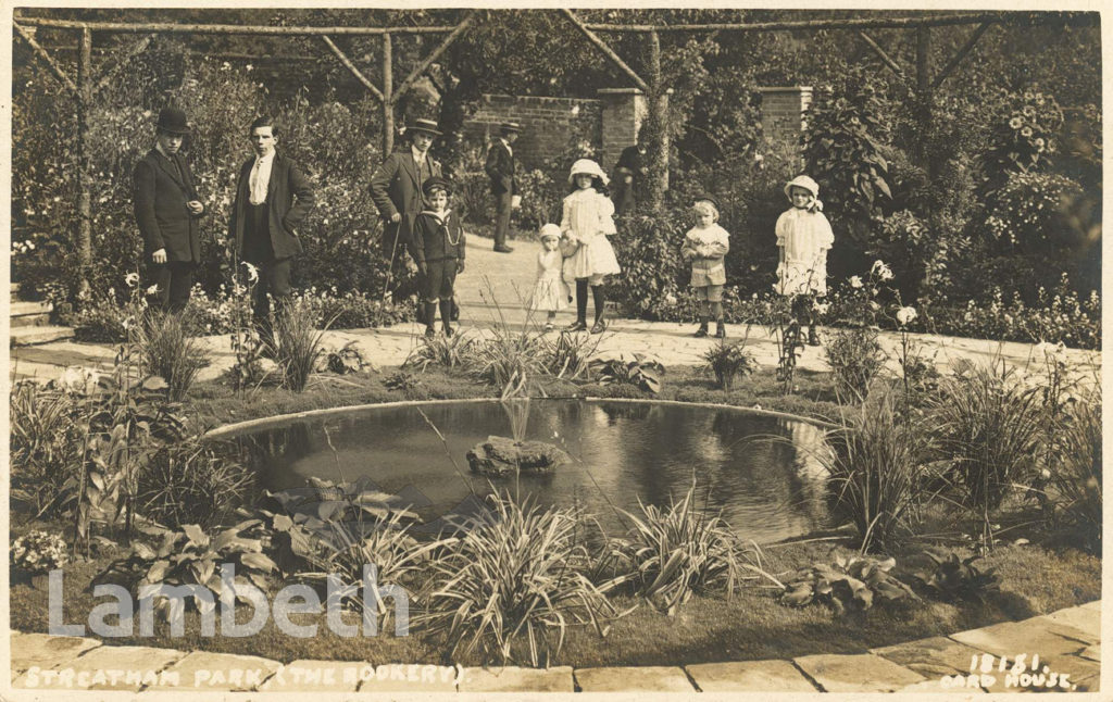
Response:
[[[785,185],[792,207],[777,219],[777,283],[781,295],[804,296],[807,308],[808,344],[819,345],[816,334],[814,296],[827,294],[827,251],[835,243],[830,223],[823,214],[819,185],[807,176],[797,176]],[[795,307],[795,306],[794,306]],[[801,324],[805,322],[800,320]]]

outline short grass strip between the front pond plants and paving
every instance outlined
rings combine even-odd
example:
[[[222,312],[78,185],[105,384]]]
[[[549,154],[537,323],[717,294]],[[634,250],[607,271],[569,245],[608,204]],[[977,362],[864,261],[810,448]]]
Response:
[[[23,531],[23,530],[20,530]],[[838,542],[776,544],[765,550],[768,570],[786,573],[814,562],[829,562],[848,555]],[[900,576],[923,572],[927,560],[916,551],[897,554]],[[106,602],[93,599],[92,577],[110,562],[108,554],[66,568],[66,622],[87,622],[92,606]],[[1032,567],[1038,563],[1040,567]],[[618,596],[618,610],[637,609],[617,620],[605,639],[592,630],[570,630],[553,665],[590,668],[599,665],[677,665],[717,661],[784,659],[812,653],[861,653],[867,649],[988,624],[1045,614],[1101,596],[1101,562],[1075,550],[1050,550],[1040,545],[1008,545],[978,562],[1002,576],[1001,592],[986,603],[939,602],[925,596],[922,603],[836,615],[821,605],[794,609],[781,605],[776,593],[765,587],[745,587],[735,597],[697,595],[667,616],[636,597]],[[920,593],[926,595],[926,593]],[[47,631],[48,599],[45,586],[16,583],[11,589],[11,627],[24,632]],[[179,650],[260,655],[283,662],[297,659],[366,661],[382,663],[433,663],[442,657],[443,642],[415,632],[398,637],[392,632],[374,637],[343,637],[324,624],[324,615],[295,615],[295,623],[318,623],[317,635],[292,637],[269,621],[248,637],[203,637],[197,615],[186,617],[186,635],[166,632],[152,639],[121,637],[111,645],[148,645]],[[351,620],[356,621],[355,615]],[[159,630],[156,630],[159,631]],[[219,627],[218,627],[219,631]],[[477,665],[482,661],[464,653],[453,663]]]

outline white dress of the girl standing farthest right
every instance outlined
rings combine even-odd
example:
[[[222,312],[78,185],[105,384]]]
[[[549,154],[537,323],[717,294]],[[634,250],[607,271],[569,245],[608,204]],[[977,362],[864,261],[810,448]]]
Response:
[[[777,246],[785,248],[785,265],[777,270],[781,295],[827,294],[827,255],[835,234],[823,212],[794,207],[777,219]]]

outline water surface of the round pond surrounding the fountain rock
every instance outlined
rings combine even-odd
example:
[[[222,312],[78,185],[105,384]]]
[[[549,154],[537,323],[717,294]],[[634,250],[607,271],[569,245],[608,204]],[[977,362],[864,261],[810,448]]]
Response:
[[[416,490],[433,520],[487,478],[467,471],[464,454],[489,435],[521,435],[559,445],[573,463],[554,474],[522,476],[519,490],[543,504],[578,504],[609,532],[615,508],[668,505],[697,481],[698,494],[740,536],[759,543],[827,526],[817,462],[823,432],[809,424],[733,409],[648,403],[534,399],[508,412],[496,402],[378,407],[298,421],[240,438],[272,491],[299,487],[309,476],[352,481],[364,475],[382,490]],[[327,431],[327,437],[326,437]],[[332,446],[329,446],[329,439]],[[447,453],[445,449],[447,444]],[[451,457],[450,457],[451,454]],[[494,482],[515,490],[513,479]]]

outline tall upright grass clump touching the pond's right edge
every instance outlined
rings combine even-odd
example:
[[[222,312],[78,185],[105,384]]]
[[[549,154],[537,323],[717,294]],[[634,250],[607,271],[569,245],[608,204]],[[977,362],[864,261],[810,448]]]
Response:
[[[818,454],[829,474],[834,512],[858,534],[861,553],[898,547],[927,500],[925,432],[903,421],[889,394],[850,409]]]

